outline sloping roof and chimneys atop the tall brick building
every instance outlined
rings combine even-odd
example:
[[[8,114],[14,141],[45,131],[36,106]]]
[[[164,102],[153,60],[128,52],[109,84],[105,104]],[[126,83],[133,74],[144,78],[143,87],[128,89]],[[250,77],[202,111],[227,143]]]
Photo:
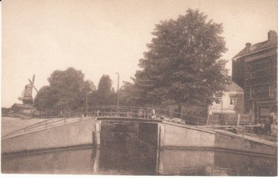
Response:
[[[235,55],[232,59],[236,60],[239,57],[246,55],[247,53],[253,53],[255,51],[259,51],[261,49],[268,48],[270,46],[277,45],[277,33],[273,30],[268,32],[268,40],[265,42],[260,42],[257,44],[251,45],[250,43],[245,44],[245,48],[241,50],[237,55]]]

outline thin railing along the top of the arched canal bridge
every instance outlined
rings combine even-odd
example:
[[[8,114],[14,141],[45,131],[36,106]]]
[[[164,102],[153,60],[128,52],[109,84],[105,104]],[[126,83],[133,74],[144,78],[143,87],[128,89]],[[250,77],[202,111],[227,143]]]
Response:
[[[125,118],[145,118],[145,119],[162,119],[165,121],[172,121],[174,123],[183,123],[188,125],[206,125],[206,118],[198,116],[190,116],[178,112],[172,112],[165,109],[154,109],[155,114],[152,113],[150,107],[116,107],[116,106],[97,106],[88,108],[79,108],[72,112],[65,114],[64,118],[51,118],[45,121],[29,125],[15,132],[11,132],[2,136],[5,139],[10,136],[24,134],[27,132],[34,132],[38,130],[47,130],[51,127],[65,125],[67,123],[74,123],[83,121],[88,118],[96,117],[125,117]]]

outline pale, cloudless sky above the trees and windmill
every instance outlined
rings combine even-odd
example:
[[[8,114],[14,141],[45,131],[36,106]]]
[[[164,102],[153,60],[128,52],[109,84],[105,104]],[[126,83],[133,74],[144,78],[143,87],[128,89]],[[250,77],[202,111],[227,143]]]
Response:
[[[4,0],[1,105],[22,103],[17,98],[33,74],[40,89],[53,71],[70,66],[96,86],[108,74],[117,88],[118,72],[122,86],[140,69],[154,25],[186,15],[188,8],[222,23],[228,48],[222,58],[231,74],[231,58],[247,42],[278,32],[277,7],[276,0]]]

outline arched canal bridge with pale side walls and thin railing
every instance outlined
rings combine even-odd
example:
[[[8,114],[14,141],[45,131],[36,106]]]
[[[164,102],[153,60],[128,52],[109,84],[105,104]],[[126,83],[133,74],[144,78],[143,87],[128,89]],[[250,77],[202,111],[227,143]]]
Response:
[[[277,143],[207,127],[206,118],[165,109],[90,107],[51,118],[2,136],[4,154],[69,148],[141,143],[156,148],[224,149],[277,155]],[[137,143],[137,142],[136,142]]]

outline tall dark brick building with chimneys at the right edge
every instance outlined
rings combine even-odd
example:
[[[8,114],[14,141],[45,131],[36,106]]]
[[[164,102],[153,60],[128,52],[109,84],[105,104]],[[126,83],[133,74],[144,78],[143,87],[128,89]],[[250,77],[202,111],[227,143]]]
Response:
[[[244,111],[261,122],[277,113],[277,33],[268,40],[245,48],[232,58],[232,80],[245,91]]]

